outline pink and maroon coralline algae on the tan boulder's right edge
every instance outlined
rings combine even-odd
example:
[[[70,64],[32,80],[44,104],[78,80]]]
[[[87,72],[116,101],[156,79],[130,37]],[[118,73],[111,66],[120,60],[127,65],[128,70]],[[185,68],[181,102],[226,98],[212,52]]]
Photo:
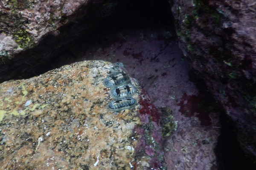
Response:
[[[159,125],[160,114],[157,108],[150,103],[149,95],[144,89],[140,94],[139,103],[139,116],[143,124],[134,128],[134,131],[141,135],[135,147],[135,153],[137,156],[149,156],[150,168],[161,170],[163,169],[163,153],[161,150],[162,129]]]

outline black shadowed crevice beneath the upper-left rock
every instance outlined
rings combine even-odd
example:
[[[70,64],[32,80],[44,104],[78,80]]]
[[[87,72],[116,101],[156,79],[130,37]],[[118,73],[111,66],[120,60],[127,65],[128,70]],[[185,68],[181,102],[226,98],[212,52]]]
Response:
[[[69,22],[58,29],[58,33],[46,35],[35,48],[17,54],[1,66],[0,82],[27,79],[75,62],[77,56],[70,50],[72,46],[87,42],[88,46],[81,47],[86,50],[93,42],[108,40],[111,34],[125,28],[172,26],[174,30],[167,0],[125,0],[110,16],[105,16],[108,8],[96,7],[94,3],[87,4],[73,16],[63,16],[63,20]],[[86,16],[83,16],[84,10],[87,10]]]

